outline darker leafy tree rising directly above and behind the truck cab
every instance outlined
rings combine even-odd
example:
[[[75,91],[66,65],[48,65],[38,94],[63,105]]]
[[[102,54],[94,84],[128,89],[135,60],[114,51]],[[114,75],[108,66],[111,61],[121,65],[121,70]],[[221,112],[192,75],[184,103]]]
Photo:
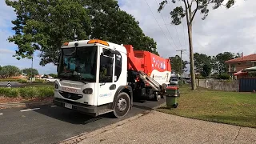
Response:
[[[91,38],[100,38],[118,44],[130,44],[134,50],[147,50],[158,54],[153,38],[143,34],[139,22],[126,11],[120,10],[118,1],[85,1],[92,22]]]

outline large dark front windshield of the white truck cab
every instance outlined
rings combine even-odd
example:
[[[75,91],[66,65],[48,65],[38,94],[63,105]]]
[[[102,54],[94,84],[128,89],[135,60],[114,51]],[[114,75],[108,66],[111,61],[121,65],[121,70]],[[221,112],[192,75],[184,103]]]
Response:
[[[98,46],[63,48],[58,78],[96,82]]]

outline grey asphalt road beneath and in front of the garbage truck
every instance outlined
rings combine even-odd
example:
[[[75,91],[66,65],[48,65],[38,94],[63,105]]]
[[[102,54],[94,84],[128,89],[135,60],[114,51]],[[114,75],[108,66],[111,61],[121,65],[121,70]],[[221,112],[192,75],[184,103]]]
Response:
[[[133,109],[125,118],[130,118],[165,102],[134,102]],[[56,143],[66,138],[121,121],[110,114],[92,118],[58,106],[37,106],[0,110],[0,143]]]

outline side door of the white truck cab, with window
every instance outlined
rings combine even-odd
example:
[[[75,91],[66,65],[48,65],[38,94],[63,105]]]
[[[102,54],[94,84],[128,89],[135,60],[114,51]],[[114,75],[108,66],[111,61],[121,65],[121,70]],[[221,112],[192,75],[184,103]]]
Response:
[[[98,106],[113,102],[117,86],[114,82],[114,54],[102,48],[99,58]]]

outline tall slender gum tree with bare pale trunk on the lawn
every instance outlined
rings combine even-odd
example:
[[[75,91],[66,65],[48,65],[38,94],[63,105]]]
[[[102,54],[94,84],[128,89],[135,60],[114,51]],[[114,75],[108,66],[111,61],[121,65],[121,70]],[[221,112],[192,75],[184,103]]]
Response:
[[[193,44],[192,44],[192,22],[194,20],[195,14],[197,14],[198,10],[201,10],[201,14],[204,14],[202,20],[206,19],[209,9],[208,6],[210,4],[214,4],[213,9],[217,9],[220,6],[223,6],[223,0],[178,0],[179,2],[183,2],[185,10],[182,6],[177,6],[170,12],[170,16],[172,18],[171,23],[174,25],[180,25],[182,23],[181,19],[186,16],[186,25],[189,36],[189,45],[190,45],[190,74],[191,74],[191,87],[192,90],[196,90],[195,83],[195,74],[194,74],[194,52],[193,52]],[[177,0],[171,0],[171,2],[175,3]],[[158,12],[163,10],[164,6],[168,3],[168,0],[163,0],[158,7]],[[234,0],[228,0],[226,2],[226,8],[230,8],[234,5]],[[192,8],[194,6],[194,10]]]

